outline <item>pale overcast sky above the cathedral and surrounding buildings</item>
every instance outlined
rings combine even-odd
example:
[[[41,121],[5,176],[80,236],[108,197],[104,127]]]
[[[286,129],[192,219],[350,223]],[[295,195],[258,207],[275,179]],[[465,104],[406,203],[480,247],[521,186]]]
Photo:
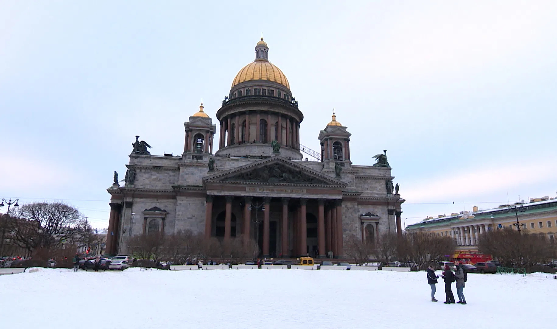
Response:
[[[2,1],[0,198],[108,226],[134,136],[181,154],[184,121],[203,99],[216,122],[261,32],[301,143],[319,149],[335,108],[355,164],[388,150],[406,224],[555,197],[555,17],[555,1]]]

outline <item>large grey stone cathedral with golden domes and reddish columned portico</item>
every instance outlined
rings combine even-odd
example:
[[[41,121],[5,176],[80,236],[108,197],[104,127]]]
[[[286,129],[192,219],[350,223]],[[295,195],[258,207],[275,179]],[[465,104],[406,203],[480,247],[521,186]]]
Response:
[[[402,232],[404,199],[386,152],[373,166],[354,165],[350,133],[334,113],[316,132],[320,151],[301,147],[304,114],[268,51],[261,38],[255,60],[232,80],[216,115],[217,141],[203,104],[184,123],[181,156],[151,155],[136,137],[125,184],[108,189],[107,253],[126,253],[134,235],[192,230],[207,239],[250,237],[262,257],[339,258],[350,236]]]

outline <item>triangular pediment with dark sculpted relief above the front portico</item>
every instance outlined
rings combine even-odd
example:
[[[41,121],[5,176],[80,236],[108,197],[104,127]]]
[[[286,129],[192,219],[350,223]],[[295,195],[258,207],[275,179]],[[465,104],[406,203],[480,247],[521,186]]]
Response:
[[[273,157],[204,178],[207,182],[246,182],[343,187],[346,183],[294,161]]]

